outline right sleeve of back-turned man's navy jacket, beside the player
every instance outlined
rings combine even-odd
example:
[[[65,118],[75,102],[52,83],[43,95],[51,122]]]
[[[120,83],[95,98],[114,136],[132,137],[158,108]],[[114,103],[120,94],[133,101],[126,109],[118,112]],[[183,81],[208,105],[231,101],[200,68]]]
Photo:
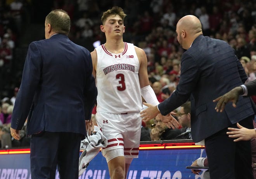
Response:
[[[95,79],[92,75],[92,57],[89,53],[89,64],[88,64],[88,77],[86,79],[84,87],[84,108],[85,108],[85,119],[90,120],[92,117],[92,109],[96,103],[97,88],[95,86]]]

